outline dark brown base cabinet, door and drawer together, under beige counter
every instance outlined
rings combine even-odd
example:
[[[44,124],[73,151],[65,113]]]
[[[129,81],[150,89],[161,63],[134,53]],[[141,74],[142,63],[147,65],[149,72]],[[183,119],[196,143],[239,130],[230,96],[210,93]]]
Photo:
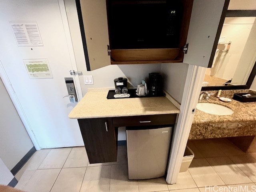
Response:
[[[116,162],[119,126],[175,124],[177,114],[78,119],[90,164]]]

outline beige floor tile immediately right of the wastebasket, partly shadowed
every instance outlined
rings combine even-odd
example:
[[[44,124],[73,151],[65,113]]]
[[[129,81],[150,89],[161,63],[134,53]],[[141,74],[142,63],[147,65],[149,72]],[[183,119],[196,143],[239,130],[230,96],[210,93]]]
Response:
[[[188,168],[198,187],[225,185],[206,159],[194,159]]]

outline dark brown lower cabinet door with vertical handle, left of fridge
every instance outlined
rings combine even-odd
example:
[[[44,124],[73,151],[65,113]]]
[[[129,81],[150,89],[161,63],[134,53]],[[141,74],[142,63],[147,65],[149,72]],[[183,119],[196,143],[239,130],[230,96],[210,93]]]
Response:
[[[112,118],[78,119],[84,145],[92,163],[115,162],[117,138]]]

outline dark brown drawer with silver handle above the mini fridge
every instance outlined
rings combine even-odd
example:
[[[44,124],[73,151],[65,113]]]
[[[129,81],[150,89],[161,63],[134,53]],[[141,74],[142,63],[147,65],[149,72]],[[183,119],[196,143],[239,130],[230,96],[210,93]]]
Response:
[[[177,114],[142,115],[112,118],[113,126],[147,126],[175,124]]]

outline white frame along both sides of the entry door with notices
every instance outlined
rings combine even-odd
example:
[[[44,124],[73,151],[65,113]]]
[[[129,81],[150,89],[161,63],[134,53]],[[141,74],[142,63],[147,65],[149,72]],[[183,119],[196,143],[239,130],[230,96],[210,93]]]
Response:
[[[69,52],[69,56],[70,56],[69,62],[71,63],[71,67],[72,67],[70,70],[77,71],[76,59],[75,59],[75,55],[74,55],[74,49],[73,49],[72,39],[71,39],[71,35],[70,35],[70,29],[68,26],[68,18],[67,18],[67,14],[66,14],[64,0],[58,0],[58,4],[59,4],[59,8],[60,8],[63,30],[65,33],[66,42],[67,42],[67,46],[68,46],[68,52]],[[22,123],[24,124],[24,126],[26,128],[26,131],[28,132],[28,135],[29,135],[32,143],[34,144],[36,150],[40,150],[41,148],[38,143],[38,140],[32,130],[30,122],[28,121],[28,118],[22,108],[22,105],[18,99],[18,96],[16,95],[15,90],[12,87],[12,83],[10,82],[6,71],[4,70],[4,66],[2,65],[1,60],[0,60],[0,78],[2,79],[2,82],[12,100],[12,103],[14,104],[14,107],[16,108],[16,110],[18,112],[18,115],[20,116],[20,119],[22,120]],[[75,85],[78,101],[80,101],[83,98],[83,95],[82,95],[82,89],[80,86],[79,76],[74,75],[73,79],[74,79],[74,85]],[[67,118],[68,118],[68,116],[67,116]]]

